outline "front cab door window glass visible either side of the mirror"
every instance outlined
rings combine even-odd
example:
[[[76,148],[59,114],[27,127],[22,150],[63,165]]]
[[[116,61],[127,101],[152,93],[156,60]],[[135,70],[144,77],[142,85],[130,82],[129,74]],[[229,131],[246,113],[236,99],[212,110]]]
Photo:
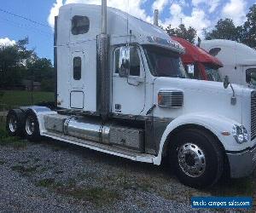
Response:
[[[122,66],[122,54],[120,54],[120,48],[115,50],[114,53],[114,60],[115,60],[115,73],[119,73],[119,70]],[[130,47],[130,76],[140,76],[140,57],[138,55],[137,47]]]

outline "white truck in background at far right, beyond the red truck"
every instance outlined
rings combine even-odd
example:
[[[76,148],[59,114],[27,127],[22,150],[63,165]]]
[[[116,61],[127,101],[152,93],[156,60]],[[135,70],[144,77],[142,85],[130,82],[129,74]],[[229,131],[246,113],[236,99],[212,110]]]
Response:
[[[222,78],[229,76],[231,83],[256,85],[256,50],[245,44],[215,39],[201,42],[201,48],[221,60]]]

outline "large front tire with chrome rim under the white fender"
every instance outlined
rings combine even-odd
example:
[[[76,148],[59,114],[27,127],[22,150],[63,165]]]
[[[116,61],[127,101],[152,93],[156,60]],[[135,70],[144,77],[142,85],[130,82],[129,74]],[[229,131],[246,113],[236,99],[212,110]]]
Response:
[[[189,187],[210,187],[224,170],[224,152],[218,141],[204,130],[183,130],[169,149],[179,181]]]

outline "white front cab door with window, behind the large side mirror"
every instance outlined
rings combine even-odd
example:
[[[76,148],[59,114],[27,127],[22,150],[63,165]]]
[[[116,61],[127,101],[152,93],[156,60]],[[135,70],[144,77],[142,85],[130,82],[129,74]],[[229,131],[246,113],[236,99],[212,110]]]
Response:
[[[125,66],[126,64],[129,66]],[[141,115],[145,107],[145,71],[137,46],[113,51],[112,112]]]

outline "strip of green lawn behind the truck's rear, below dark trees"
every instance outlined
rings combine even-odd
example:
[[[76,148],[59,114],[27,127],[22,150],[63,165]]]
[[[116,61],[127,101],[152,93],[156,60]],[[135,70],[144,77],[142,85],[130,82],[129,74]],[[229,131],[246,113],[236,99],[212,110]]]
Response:
[[[38,102],[49,101],[54,101],[53,92],[5,90],[4,95],[0,97],[0,104],[6,105],[6,108],[8,109],[12,107],[30,106]],[[3,109],[0,108],[0,111],[1,110]]]

